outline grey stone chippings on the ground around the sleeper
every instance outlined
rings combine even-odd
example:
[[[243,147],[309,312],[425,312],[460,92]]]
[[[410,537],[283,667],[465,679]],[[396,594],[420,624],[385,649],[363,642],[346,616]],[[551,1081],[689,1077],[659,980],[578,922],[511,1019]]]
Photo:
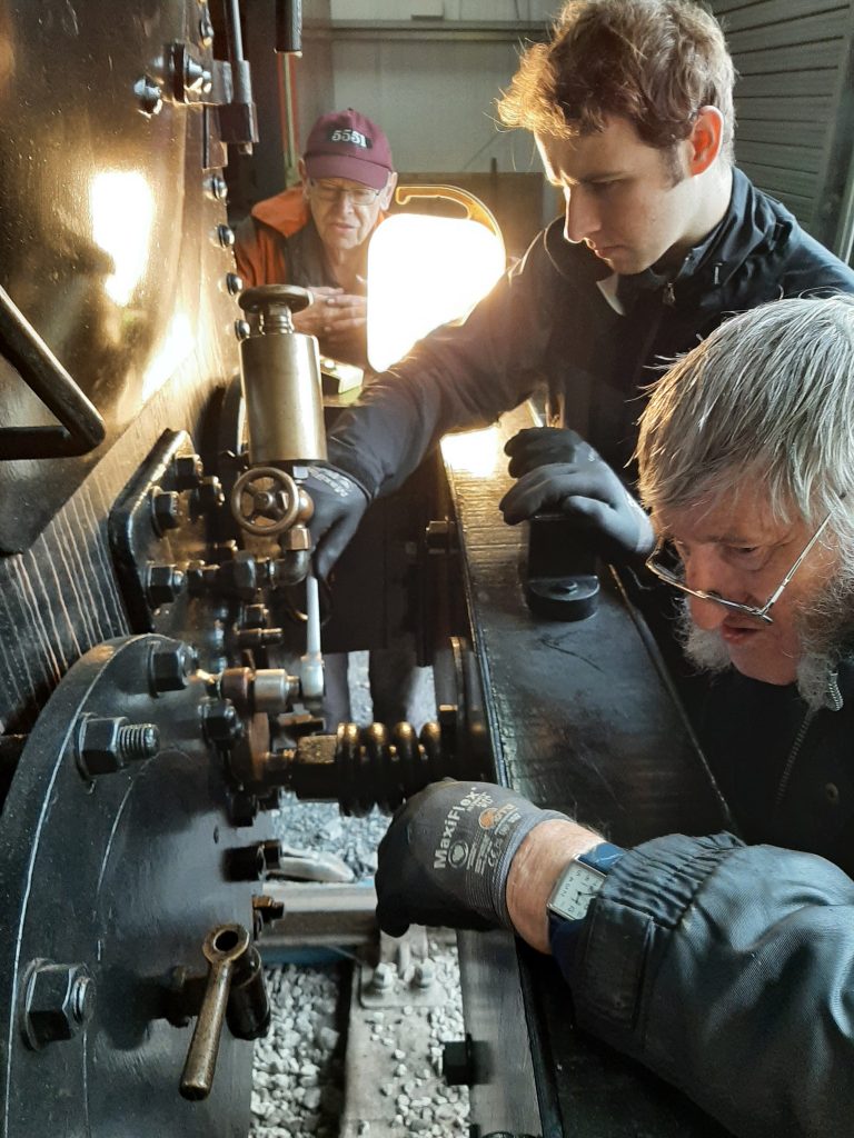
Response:
[[[356,662],[364,670],[363,661]],[[366,696],[360,696],[352,674],[353,662],[354,719],[370,721],[369,711],[359,703]],[[286,800],[272,818],[276,836],[288,847],[335,853],[356,879],[375,873],[377,846],[388,826],[387,816],[376,810],[367,818],[347,818],[335,803],[295,800]],[[465,1036],[455,947],[430,938],[430,963],[436,981],[449,993],[442,1007],[405,1006],[369,1014],[375,1040],[388,1052],[388,1073],[379,1091],[394,1103],[393,1130],[401,1138],[467,1138],[468,1089],[440,1081],[443,1042]],[[285,965],[268,970],[272,1023],[266,1038],[255,1044],[249,1138],[338,1138],[346,1092],[346,1040],[336,1019],[340,967]],[[426,1054],[410,1055],[404,1049],[404,1017],[411,1015],[424,1016],[429,1025]],[[403,1039],[399,1036],[402,1026]],[[370,1138],[367,1120],[360,1123],[359,1133]]]

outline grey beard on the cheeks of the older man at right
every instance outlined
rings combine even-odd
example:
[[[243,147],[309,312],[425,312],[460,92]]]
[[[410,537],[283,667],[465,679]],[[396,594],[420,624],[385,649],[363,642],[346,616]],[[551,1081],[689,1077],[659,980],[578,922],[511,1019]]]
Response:
[[[798,633],[804,646],[795,675],[798,694],[807,707],[839,710],[841,696],[836,683],[844,650],[852,643],[854,582],[836,578],[808,613]],[[717,675],[732,667],[718,629],[698,628],[691,620],[688,601],[680,604],[678,635],[690,662],[700,671]]]

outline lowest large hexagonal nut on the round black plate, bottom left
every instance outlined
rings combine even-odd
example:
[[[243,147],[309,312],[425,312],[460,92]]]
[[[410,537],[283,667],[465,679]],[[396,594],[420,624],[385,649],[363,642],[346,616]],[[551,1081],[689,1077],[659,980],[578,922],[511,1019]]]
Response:
[[[84,964],[40,962],[26,983],[24,1039],[33,1049],[73,1039],[92,1017],[95,981]]]

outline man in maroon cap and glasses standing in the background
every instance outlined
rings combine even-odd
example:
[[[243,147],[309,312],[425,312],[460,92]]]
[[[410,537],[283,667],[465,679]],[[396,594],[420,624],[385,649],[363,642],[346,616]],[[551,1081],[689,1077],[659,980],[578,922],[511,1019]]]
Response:
[[[385,132],[337,110],[312,126],[302,184],[260,201],[237,226],[237,267],[249,287],[302,284],[314,304],[294,318],[322,355],[364,366],[368,239],[385,216],[397,174]]]

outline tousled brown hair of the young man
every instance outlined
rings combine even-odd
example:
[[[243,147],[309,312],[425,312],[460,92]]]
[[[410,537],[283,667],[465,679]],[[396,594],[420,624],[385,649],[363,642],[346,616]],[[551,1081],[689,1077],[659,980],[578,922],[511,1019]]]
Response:
[[[568,0],[496,109],[506,126],[556,138],[597,133],[619,115],[667,149],[690,135],[700,107],[717,107],[731,162],[734,81],[720,25],[692,0]]]

